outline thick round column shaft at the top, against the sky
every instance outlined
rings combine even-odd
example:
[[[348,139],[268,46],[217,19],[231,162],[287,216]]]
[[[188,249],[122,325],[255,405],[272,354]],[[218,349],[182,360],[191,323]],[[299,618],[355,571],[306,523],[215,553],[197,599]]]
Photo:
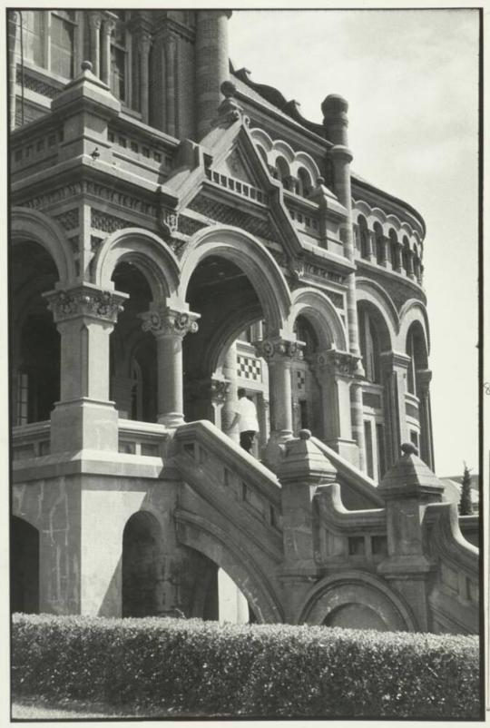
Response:
[[[198,10],[196,27],[197,138],[202,139],[222,101],[220,87],[228,81],[229,10]]]

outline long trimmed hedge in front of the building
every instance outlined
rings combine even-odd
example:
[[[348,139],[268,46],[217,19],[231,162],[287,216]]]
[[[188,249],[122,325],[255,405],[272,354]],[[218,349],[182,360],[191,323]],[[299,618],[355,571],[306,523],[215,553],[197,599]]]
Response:
[[[16,697],[196,715],[480,716],[476,636],[14,615]]]

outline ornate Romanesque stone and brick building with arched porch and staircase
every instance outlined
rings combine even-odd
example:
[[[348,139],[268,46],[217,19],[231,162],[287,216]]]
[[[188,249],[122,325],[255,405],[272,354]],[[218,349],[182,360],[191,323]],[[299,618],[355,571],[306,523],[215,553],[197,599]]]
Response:
[[[8,16],[14,608],[216,618],[222,572],[259,621],[474,632],[425,223],[342,97],[312,123],[230,65],[229,17]]]

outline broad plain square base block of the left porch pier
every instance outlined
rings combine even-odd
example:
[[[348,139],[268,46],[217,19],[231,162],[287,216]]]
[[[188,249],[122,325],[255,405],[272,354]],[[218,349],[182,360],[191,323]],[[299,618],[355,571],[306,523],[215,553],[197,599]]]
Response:
[[[83,397],[57,402],[51,413],[51,452],[118,451],[118,413],[113,402]]]

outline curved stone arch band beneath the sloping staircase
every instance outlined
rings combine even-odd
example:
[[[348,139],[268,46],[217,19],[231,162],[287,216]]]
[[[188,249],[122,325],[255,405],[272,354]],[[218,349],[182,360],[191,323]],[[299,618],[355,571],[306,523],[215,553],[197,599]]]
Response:
[[[177,516],[179,541],[207,556],[230,576],[246,596],[258,621],[283,622],[279,598],[257,561],[230,534],[201,516],[183,513]]]

